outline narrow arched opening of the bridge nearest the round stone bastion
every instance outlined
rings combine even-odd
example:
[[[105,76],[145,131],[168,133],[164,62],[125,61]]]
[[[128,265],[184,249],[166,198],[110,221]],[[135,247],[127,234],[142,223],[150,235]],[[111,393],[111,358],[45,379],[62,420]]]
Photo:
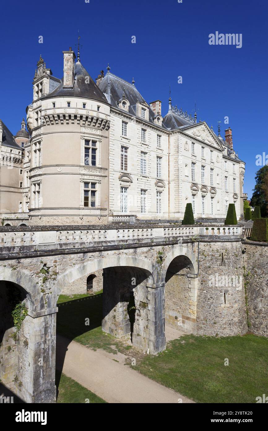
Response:
[[[197,275],[185,255],[174,257],[165,275],[166,325],[185,333],[196,332]]]

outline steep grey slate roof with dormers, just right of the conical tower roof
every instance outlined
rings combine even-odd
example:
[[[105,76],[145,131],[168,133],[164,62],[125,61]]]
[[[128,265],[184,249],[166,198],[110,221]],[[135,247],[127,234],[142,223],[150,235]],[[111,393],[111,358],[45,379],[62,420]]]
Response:
[[[130,82],[125,81],[124,79],[114,75],[111,72],[106,73],[105,77],[99,83],[99,88],[105,94],[105,97],[111,104],[111,106],[114,106],[114,108],[117,109],[119,109],[118,102],[120,99],[122,99],[124,94],[126,99],[129,101],[129,114],[132,114],[134,116],[136,116],[136,103],[138,101],[140,103],[146,103],[146,105],[149,105],[149,103],[147,103],[146,100],[142,97],[134,84],[130,84]],[[149,106],[150,123],[154,123],[154,117],[155,114]],[[163,125],[163,123],[162,127],[166,129],[166,126]]]

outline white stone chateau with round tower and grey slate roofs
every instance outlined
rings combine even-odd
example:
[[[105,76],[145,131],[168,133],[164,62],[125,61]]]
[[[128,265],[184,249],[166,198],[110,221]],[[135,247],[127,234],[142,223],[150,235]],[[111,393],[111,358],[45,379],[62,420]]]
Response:
[[[156,94],[157,97],[157,94]],[[96,82],[78,50],[63,51],[63,78],[41,58],[33,101],[15,136],[0,122],[3,225],[89,225],[114,221],[243,219],[245,162],[204,121],[101,71]]]

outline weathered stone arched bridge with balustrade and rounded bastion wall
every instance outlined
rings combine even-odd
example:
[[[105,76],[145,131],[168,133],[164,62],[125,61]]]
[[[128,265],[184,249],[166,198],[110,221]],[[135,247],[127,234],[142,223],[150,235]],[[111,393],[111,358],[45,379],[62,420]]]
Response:
[[[245,333],[243,238],[241,226],[211,224],[0,228],[2,382],[28,403],[55,402],[59,294],[100,270],[102,330],[130,334],[144,351],[165,349],[165,322],[185,333]],[[14,336],[15,298],[27,316]]]

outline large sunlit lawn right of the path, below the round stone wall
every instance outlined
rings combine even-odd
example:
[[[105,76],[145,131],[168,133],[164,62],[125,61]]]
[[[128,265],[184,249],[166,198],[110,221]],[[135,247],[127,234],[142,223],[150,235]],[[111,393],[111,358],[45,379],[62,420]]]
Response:
[[[265,337],[185,335],[133,368],[198,403],[256,403],[268,394],[267,357]]]

